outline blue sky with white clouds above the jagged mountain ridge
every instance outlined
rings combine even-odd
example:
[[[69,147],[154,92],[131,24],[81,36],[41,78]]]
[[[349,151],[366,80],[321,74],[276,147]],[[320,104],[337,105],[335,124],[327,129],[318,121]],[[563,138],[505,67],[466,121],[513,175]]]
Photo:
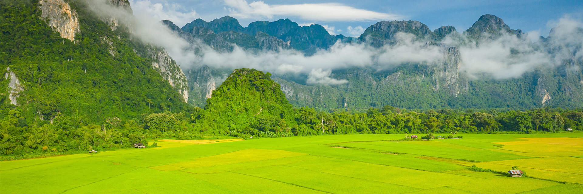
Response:
[[[501,17],[511,29],[547,36],[561,17],[583,20],[581,1],[382,1],[382,0],[130,0],[136,13],[178,26],[201,18],[206,22],[232,16],[241,26],[257,20],[289,18],[300,25],[321,24],[332,35],[360,36],[382,20],[417,20],[431,30],[454,26],[465,31],[480,16]]]

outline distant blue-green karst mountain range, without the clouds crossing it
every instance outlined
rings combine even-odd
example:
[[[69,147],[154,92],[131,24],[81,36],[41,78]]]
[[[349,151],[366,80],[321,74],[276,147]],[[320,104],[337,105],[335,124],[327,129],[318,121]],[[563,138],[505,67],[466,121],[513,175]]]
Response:
[[[557,30],[552,30],[549,37],[542,39],[543,47],[532,46],[532,50],[545,50],[550,55],[561,55],[561,59],[557,57],[557,60],[563,60],[559,62],[563,65],[545,64],[527,70],[522,75],[504,79],[467,72],[468,67],[464,66],[462,59],[462,52],[466,47],[491,43],[503,36],[515,36],[521,41],[526,38],[522,30],[510,29],[502,19],[494,15],[479,17],[472,27],[462,33],[458,33],[452,26],[442,26],[432,31],[418,21],[382,21],[367,27],[359,38],[332,36],[320,25],[300,27],[289,19],[257,21],[247,27],[241,27],[230,16],[211,22],[196,19],[181,29],[171,22],[165,23],[170,24],[170,29],[181,36],[198,38],[219,52],[229,52],[237,45],[245,50],[255,51],[297,50],[310,56],[318,49],[328,50],[336,41],[368,44],[375,48],[395,45],[402,41],[397,38],[398,34],[412,34],[413,41],[428,47],[438,47],[440,50],[440,59],[426,64],[403,63],[394,68],[380,70],[367,67],[332,69],[332,78],[348,81],[341,85],[308,84],[305,82],[307,73],[274,73],[273,79],[282,86],[286,97],[295,106],[307,105],[322,109],[359,109],[382,105],[423,109],[535,108],[545,105],[577,107],[583,103],[582,63],[581,58],[575,57],[581,50],[582,41],[573,43],[559,40],[556,37]],[[560,32],[561,37],[578,36],[577,30],[571,30],[570,33],[574,34],[564,36],[565,33]],[[259,36],[264,39],[259,40]],[[454,44],[451,41],[444,42],[447,37],[455,40]],[[564,60],[565,58],[568,60]],[[204,66],[185,65],[187,68],[194,66],[185,71],[196,72],[201,65]],[[224,69],[206,68],[215,70],[203,70],[196,76],[215,77],[212,82],[220,83],[219,77],[229,73]],[[211,82],[201,83],[201,79],[195,80],[189,80],[189,83],[198,86],[212,85]],[[191,89],[191,93],[209,93],[209,87]],[[201,97],[192,100],[199,103],[191,104],[204,104],[206,97],[199,96]]]

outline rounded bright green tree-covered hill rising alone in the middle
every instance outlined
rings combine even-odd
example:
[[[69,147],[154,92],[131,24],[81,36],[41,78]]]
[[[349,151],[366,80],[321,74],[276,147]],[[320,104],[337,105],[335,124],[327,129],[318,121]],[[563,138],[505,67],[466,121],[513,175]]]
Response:
[[[293,121],[293,107],[271,73],[236,69],[206,102],[211,118],[233,129],[286,130]]]

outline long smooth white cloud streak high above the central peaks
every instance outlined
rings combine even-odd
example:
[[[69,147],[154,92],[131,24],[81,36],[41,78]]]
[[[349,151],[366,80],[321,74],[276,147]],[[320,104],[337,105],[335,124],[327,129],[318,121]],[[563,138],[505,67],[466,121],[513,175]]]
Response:
[[[223,0],[231,15],[250,19],[272,19],[275,16],[297,16],[312,21],[371,21],[396,20],[401,16],[357,9],[342,3],[304,3],[295,5],[268,5],[263,1]]]

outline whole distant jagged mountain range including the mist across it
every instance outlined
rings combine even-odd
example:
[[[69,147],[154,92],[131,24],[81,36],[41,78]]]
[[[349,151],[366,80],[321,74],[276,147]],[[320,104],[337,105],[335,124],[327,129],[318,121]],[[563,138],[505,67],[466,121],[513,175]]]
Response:
[[[132,33],[166,48],[188,79],[188,102],[198,106],[236,68],[271,72],[290,103],[322,109],[583,104],[583,30],[568,17],[547,37],[511,29],[494,15],[461,32],[381,21],[359,37],[333,36],[321,25],[289,19],[247,27],[230,16],[182,27],[144,21],[132,22]]]

